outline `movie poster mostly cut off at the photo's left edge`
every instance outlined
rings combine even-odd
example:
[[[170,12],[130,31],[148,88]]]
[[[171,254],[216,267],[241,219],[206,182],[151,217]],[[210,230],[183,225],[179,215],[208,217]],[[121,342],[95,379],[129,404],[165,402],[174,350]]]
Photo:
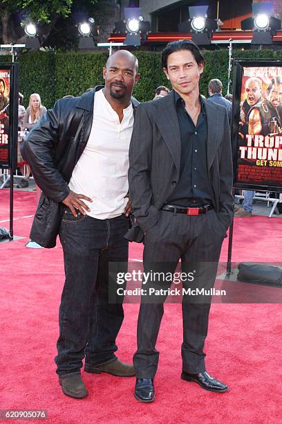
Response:
[[[10,142],[10,69],[0,67],[0,166],[8,164]]]

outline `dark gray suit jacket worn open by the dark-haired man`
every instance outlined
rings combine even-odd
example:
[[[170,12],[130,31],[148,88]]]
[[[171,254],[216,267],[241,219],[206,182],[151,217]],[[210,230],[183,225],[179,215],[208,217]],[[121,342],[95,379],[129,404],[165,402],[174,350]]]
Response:
[[[207,168],[212,202],[225,229],[233,218],[232,151],[227,111],[207,102]],[[158,221],[160,209],[180,177],[180,130],[173,91],[151,102],[141,103],[135,115],[129,148],[129,193],[136,224],[126,234],[140,241]],[[138,240],[139,239],[139,240]]]

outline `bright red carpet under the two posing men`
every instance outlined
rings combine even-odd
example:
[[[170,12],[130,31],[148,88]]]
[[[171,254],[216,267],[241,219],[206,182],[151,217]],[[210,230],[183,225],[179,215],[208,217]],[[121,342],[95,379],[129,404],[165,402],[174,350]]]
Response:
[[[8,227],[8,191],[0,191],[0,226]],[[180,305],[168,304],[158,339],[156,401],[133,398],[134,378],[83,374],[88,398],[67,398],[57,382],[57,310],[64,282],[62,249],[26,249],[35,193],[15,193],[15,235],[0,243],[1,409],[47,409],[48,423],[279,423],[282,324],[280,304],[213,304],[206,343],[207,369],[230,387],[225,394],[180,380]],[[236,220],[233,260],[281,260],[276,218]],[[222,260],[226,260],[227,242]],[[130,257],[142,258],[140,245]],[[135,351],[138,305],[125,305],[119,357]],[[4,422],[4,421],[3,421]],[[6,421],[5,421],[6,422]],[[22,422],[22,421],[17,421]],[[41,422],[41,421],[30,421]]]

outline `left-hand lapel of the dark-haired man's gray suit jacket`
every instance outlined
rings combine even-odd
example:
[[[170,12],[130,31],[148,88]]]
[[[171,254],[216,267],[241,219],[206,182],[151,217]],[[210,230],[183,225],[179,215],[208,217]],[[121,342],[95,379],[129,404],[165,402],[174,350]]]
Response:
[[[166,143],[178,172],[180,171],[181,140],[174,94],[171,91],[164,98],[152,100],[156,106],[154,119],[158,130]]]

